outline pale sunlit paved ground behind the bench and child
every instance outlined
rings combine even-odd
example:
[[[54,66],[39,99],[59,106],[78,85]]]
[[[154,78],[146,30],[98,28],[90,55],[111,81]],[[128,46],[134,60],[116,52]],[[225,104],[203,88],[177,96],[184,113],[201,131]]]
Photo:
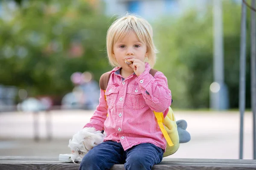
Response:
[[[0,156],[56,156],[70,153],[73,134],[89,122],[92,111],[52,111],[52,136],[47,141],[45,114],[39,116],[39,142],[33,141],[32,113],[0,113]],[[239,112],[176,111],[188,122],[191,141],[173,158],[239,159]],[[244,159],[253,159],[252,114],[244,117]]]

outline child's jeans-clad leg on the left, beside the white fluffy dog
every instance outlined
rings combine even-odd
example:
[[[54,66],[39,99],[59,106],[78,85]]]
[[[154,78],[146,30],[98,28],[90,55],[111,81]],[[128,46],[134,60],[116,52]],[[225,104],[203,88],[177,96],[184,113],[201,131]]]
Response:
[[[82,159],[79,170],[106,170],[123,160],[123,147],[113,141],[102,142],[93,147]]]

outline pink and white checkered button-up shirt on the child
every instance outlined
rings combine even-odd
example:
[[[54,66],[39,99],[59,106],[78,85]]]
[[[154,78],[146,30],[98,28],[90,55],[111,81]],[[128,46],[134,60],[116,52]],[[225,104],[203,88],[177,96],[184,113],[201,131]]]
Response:
[[[153,77],[150,69],[146,62],[143,74],[131,74],[126,79],[121,76],[119,67],[110,71],[108,87],[105,92],[100,91],[99,105],[84,127],[105,130],[104,141],[121,142],[124,150],[141,143],[166,150],[166,139],[153,111],[163,112],[165,117],[172,94],[164,74],[157,71]]]

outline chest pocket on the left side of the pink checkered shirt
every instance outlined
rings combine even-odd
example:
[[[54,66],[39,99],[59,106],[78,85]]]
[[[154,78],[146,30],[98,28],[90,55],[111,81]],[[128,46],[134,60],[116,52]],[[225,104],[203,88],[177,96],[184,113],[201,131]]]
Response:
[[[105,95],[106,95],[106,100],[109,108],[113,108],[116,98],[118,96],[119,92],[119,86],[116,85],[108,85]]]

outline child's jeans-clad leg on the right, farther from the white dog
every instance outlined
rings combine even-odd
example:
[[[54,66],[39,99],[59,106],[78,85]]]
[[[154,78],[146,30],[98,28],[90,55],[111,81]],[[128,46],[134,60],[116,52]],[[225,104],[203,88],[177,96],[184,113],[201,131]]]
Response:
[[[127,150],[125,170],[151,170],[163,159],[163,149],[150,143],[138,144]]]

